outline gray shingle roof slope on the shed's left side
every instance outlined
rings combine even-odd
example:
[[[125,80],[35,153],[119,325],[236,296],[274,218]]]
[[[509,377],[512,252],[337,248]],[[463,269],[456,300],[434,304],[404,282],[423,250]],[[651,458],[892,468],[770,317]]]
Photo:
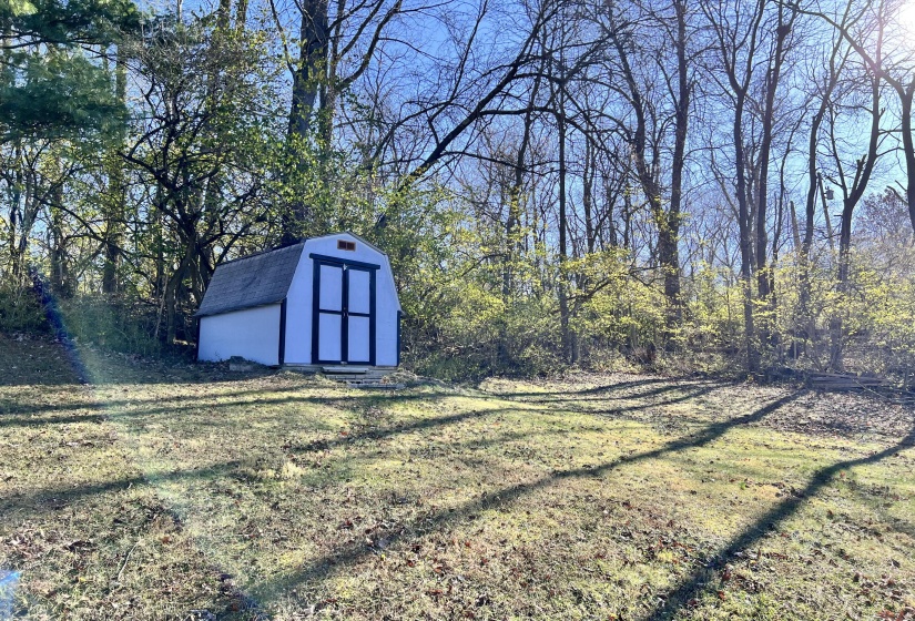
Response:
[[[286,297],[305,242],[246,256],[216,266],[195,317],[218,315]]]

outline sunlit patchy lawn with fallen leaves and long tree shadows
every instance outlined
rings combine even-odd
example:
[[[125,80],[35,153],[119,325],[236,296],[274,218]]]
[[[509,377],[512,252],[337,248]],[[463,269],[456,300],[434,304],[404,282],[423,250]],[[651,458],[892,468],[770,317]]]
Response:
[[[0,569],[27,618],[915,618],[898,406],[80,356],[88,384],[0,336]]]

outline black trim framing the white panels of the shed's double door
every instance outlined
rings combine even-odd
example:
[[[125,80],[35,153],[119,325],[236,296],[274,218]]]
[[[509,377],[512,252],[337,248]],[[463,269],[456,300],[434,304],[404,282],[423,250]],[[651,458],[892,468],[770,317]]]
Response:
[[[336,256],[327,256],[321,254],[311,254],[309,257],[314,263],[314,277],[312,286],[312,364],[316,365],[369,365],[375,366],[375,324],[377,318],[375,281],[380,265],[374,263],[364,263],[360,261],[350,261]],[[343,271],[342,286],[340,286],[340,307],[337,309],[328,309],[321,307],[321,267],[322,265],[340,268]],[[368,274],[368,313],[358,313],[349,310],[349,273],[352,271],[366,272]],[[319,357],[321,344],[321,316],[322,315],[338,315],[340,317],[340,359],[325,360]],[[350,360],[349,359],[349,317],[366,317],[368,318],[368,359],[367,360]]]

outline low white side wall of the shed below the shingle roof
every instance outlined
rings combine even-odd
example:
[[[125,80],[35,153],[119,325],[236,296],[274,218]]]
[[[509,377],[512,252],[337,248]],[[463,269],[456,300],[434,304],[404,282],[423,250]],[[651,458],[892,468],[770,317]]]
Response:
[[[279,364],[279,305],[201,317],[197,359],[241,356],[262,365]]]

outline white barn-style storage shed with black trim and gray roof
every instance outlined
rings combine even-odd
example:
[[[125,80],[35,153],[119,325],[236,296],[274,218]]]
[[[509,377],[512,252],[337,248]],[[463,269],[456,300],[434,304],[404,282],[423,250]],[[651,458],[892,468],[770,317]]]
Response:
[[[352,233],[216,266],[195,317],[197,359],[264,365],[400,363],[400,303],[387,255]]]

